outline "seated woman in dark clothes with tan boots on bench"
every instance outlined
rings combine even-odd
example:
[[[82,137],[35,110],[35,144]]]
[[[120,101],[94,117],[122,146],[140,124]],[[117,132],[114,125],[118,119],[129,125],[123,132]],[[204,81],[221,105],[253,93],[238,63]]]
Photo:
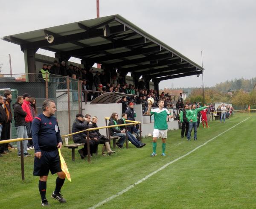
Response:
[[[98,118],[96,116],[94,116],[91,120],[91,122],[89,122],[88,124],[88,128],[98,128],[97,123],[98,122]],[[115,153],[115,151],[112,151],[109,145],[109,139],[107,138],[107,136],[104,136],[102,134],[99,133],[99,130],[94,130],[94,131],[90,131],[90,138],[95,140],[96,142],[98,142],[99,144],[103,144],[102,146],[102,155],[106,155],[105,151],[107,151],[107,153],[113,154]]]

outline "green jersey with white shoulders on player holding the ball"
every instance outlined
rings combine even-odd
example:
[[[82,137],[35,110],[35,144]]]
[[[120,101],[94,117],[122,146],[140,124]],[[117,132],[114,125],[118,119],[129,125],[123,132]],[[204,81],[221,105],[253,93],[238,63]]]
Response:
[[[166,117],[171,115],[166,108],[160,110],[159,108],[151,109],[150,114],[154,115],[154,129],[166,130],[168,125],[166,122]]]

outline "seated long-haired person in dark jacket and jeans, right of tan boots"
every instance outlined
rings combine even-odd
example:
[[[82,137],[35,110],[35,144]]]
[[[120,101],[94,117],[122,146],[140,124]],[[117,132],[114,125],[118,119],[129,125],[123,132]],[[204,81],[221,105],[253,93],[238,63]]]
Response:
[[[118,114],[112,113],[108,122],[108,125],[117,125]],[[121,131],[120,127],[110,128],[111,136],[120,136],[118,142],[116,142],[117,147],[122,148],[125,142],[125,131]]]

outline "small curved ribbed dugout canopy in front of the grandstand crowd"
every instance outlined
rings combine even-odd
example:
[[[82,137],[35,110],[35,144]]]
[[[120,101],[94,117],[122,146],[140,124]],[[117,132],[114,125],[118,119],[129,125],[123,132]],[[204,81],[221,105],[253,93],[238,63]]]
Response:
[[[90,104],[117,103],[122,99],[123,96],[134,96],[134,97],[136,97],[137,95],[117,93],[117,92],[109,92],[109,93],[104,93],[102,95],[97,96],[95,99],[93,99],[92,102],[90,102]]]

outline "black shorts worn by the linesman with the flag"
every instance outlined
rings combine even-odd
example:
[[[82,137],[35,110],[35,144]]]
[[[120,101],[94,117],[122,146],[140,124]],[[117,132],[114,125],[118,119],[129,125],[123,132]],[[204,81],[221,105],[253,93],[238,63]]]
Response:
[[[34,160],[34,176],[48,176],[49,171],[52,174],[62,171],[58,150],[41,151],[41,153],[41,158],[35,157]]]

